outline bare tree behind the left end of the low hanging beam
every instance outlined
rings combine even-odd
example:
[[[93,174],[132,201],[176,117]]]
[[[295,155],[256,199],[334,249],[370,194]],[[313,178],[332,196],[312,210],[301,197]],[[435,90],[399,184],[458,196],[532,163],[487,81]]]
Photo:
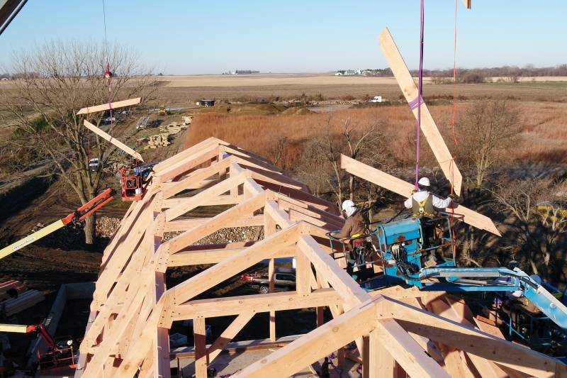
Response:
[[[325,182],[337,204],[347,197],[354,200],[357,180],[341,169],[340,155],[372,166],[381,165],[386,155],[379,126],[378,122],[363,125],[349,118],[340,122],[327,118],[322,135],[305,146],[300,174],[308,178],[308,184]]]

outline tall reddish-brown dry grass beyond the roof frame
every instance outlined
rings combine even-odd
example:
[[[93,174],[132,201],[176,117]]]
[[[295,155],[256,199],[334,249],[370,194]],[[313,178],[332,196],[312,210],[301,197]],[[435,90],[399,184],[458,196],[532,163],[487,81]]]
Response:
[[[527,161],[567,162],[567,104],[517,101],[513,105],[521,113],[522,133],[520,143],[510,151],[510,157]],[[469,103],[458,105],[457,123],[468,106]],[[456,151],[451,135],[452,106],[430,106],[430,111],[449,150]],[[284,169],[293,169],[301,161],[306,142],[324,133],[330,118],[330,132],[335,135],[341,132],[342,122],[347,119],[360,128],[378,123],[388,146],[385,153],[393,157],[393,165],[411,165],[415,160],[415,118],[408,106],[381,106],[305,115],[198,114],[193,118],[184,146],[189,147],[215,136],[273,159],[271,155],[274,145],[281,143],[281,138],[286,137],[279,165]],[[424,164],[433,164],[432,158],[430,148],[423,142]]]

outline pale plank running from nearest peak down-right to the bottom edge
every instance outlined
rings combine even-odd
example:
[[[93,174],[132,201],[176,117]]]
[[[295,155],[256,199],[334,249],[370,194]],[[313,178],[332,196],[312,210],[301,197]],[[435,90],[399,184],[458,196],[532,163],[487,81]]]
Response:
[[[393,319],[378,321],[376,336],[410,377],[450,378],[415,340]]]

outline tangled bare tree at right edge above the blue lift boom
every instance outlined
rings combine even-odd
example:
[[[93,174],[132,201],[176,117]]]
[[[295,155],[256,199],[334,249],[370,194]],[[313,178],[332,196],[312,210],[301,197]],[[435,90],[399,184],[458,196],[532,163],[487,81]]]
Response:
[[[567,236],[567,181],[516,180],[493,190],[497,209],[511,218],[516,260],[557,282]]]

